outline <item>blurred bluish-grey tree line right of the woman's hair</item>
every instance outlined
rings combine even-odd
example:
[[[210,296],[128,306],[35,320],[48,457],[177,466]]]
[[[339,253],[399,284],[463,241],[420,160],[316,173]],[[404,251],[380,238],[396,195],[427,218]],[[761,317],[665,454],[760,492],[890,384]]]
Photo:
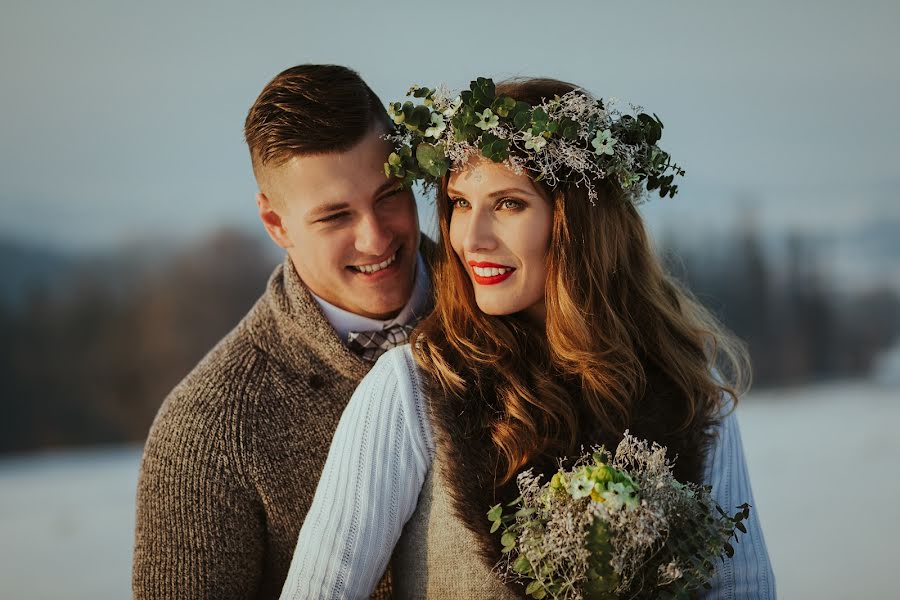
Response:
[[[773,387],[870,373],[900,339],[900,295],[876,284],[846,291],[809,238],[791,234],[775,258],[752,220],[704,247],[671,242],[669,271],[744,340],[754,386]]]

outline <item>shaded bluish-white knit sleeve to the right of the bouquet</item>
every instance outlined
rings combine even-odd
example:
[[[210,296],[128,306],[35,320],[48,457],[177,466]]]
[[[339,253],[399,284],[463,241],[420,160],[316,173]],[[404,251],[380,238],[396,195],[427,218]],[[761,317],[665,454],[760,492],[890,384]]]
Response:
[[[747,533],[738,533],[738,543],[732,544],[734,556],[724,564],[716,564],[716,574],[710,581],[712,588],[704,591],[704,600],[774,599],[775,575],[750,488],[741,431],[733,412],[718,427],[706,461],[705,480],[712,485],[713,498],[726,512],[734,513],[744,502],[753,508],[750,519],[745,521]]]

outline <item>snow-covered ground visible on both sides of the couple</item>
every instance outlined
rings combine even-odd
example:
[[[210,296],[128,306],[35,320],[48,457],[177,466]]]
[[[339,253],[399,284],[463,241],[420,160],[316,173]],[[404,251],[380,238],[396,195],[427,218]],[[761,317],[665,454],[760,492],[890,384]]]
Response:
[[[788,599],[897,597],[900,388],[758,393],[739,409],[757,516]],[[0,598],[128,598],[140,449],[0,459]]]

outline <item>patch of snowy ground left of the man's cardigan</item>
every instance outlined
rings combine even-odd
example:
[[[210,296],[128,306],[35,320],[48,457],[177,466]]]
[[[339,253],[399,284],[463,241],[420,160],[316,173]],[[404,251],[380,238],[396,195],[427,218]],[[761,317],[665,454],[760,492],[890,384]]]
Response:
[[[140,448],[0,460],[0,598],[131,597]]]

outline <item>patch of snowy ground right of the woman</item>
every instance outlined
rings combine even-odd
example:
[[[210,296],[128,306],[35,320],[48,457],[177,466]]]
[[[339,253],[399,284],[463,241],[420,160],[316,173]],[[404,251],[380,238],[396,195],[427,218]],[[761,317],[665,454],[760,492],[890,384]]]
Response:
[[[759,393],[741,432],[782,598],[900,598],[900,387]]]

